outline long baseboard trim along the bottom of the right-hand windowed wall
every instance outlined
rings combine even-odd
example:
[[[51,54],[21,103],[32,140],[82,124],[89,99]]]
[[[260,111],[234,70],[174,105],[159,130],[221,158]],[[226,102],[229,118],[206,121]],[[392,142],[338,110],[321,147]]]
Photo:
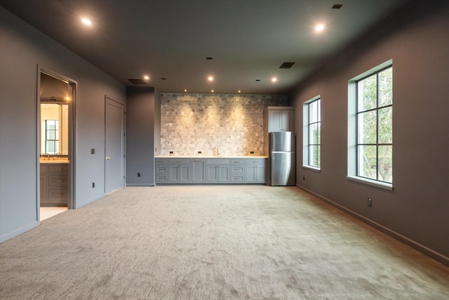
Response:
[[[443,263],[446,266],[449,266],[449,257],[445,256],[439,252],[436,252],[433,249],[430,249],[429,247],[424,246],[423,244],[420,244],[419,242],[416,242],[415,240],[411,240],[409,237],[406,237],[405,235],[401,235],[401,233],[396,233],[396,231],[391,230],[390,228],[387,228],[383,226],[380,223],[377,223],[371,219],[368,219],[366,216],[363,216],[361,214],[356,213],[355,211],[352,211],[351,209],[348,209],[347,207],[342,206],[341,204],[338,204],[337,202],[333,202],[332,200],[323,197],[322,195],[319,195],[318,193],[315,193],[312,190],[309,190],[308,188],[304,188],[302,185],[296,185],[297,188],[300,188],[301,190],[304,190],[305,192],[314,195],[315,197],[319,198],[320,200],[323,200],[324,202],[327,202],[328,204],[332,205],[333,207],[336,207],[337,209],[340,209],[341,211],[344,211],[345,213],[354,216],[356,219],[359,219],[363,221],[364,223],[367,223],[369,226],[372,226],[373,228],[376,228],[377,230],[382,231],[382,233],[385,233],[394,239],[403,242],[404,244],[407,244],[408,246],[412,247],[413,249],[416,249],[419,252],[422,252],[423,254],[426,254],[427,256],[431,257],[432,259],[435,259],[436,261]]]

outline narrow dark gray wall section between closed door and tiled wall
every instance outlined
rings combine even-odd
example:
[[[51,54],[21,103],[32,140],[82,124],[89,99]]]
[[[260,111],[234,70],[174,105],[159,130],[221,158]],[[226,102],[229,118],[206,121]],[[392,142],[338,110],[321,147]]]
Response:
[[[126,89],[126,185],[154,185],[154,150],[155,144],[160,145],[154,136],[161,128],[161,97],[156,93],[153,87],[146,86]]]

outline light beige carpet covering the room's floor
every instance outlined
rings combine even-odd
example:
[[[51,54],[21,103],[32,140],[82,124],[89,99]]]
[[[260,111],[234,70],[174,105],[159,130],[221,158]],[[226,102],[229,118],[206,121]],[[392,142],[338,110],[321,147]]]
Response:
[[[448,299],[449,268],[295,187],[123,188],[0,244],[0,299]]]

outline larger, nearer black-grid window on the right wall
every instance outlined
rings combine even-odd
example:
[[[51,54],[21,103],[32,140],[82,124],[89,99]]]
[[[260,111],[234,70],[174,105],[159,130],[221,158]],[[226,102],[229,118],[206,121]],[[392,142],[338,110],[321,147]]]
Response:
[[[386,64],[349,81],[348,176],[392,188],[393,67]]]

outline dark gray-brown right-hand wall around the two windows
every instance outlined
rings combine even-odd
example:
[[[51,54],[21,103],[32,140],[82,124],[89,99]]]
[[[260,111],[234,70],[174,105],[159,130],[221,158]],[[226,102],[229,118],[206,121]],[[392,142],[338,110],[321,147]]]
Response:
[[[428,4],[428,2],[427,2]],[[415,15],[415,21],[413,16]],[[406,17],[405,17],[406,16]],[[403,22],[403,18],[408,18]],[[395,23],[396,22],[396,23]],[[401,24],[399,24],[401,23]],[[298,158],[302,106],[321,95],[321,172],[297,162],[297,185],[347,209],[430,256],[449,263],[449,10],[416,8],[377,28],[298,87]],[[393,60],[394,190],[348,181],[348,80]],[[303,176],[305,180],[303,180]],[[367,207],[366,198],[373,199]]]

